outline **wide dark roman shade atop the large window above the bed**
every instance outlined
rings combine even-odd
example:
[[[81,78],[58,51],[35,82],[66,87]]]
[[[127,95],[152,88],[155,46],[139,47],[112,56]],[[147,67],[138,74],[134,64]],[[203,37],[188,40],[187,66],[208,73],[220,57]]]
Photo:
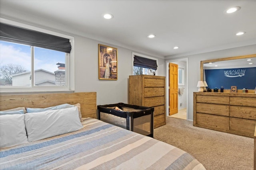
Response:
[[[70,53],[69,39],[0,23],[0,40]]]

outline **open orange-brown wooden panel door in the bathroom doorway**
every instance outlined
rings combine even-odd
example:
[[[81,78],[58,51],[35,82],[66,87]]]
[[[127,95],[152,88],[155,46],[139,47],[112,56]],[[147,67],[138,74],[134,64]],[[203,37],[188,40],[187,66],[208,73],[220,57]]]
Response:
[[[178,113],[178,64],[169,63],[169,115]]]

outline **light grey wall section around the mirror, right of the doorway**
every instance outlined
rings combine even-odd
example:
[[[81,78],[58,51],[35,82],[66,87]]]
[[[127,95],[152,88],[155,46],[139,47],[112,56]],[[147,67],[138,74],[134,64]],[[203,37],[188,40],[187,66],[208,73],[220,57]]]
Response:
[[[197,92],[197,82],[200,80],[200,61],[234,57],[240,55],[256,54],[256,44],[232,49],[213,51],[196,55],[171,58],[166,57],[166,61],[188,58],[188,119],[193,120],[193,92]]]

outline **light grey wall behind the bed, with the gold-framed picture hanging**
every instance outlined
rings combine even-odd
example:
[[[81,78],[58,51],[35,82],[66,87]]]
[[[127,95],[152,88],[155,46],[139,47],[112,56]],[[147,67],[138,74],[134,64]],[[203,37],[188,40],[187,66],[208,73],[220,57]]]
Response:
[[[157,75],[164,76],[165,74],[165,60],[162,55],[153,55],[152,53],[150,55],[149,52],[136,47],[120,47],[118,44],[108,44],[108,42],[86,38],[78,35],[77,32],[72,32],[72,29],[68,29],[64,25],[58,25],[56,22],[26,16],[25,13],[24,15],[12,12],[12,16],[2,15],[1,18],[74,37],[72,50],[74,50],[75,56],[75,92],[97,92],[97,105],[128,103],[128,78],[129,75],[132,75],[133,66],[132,52],[157,58]],[[98,44],[118,48],[118,80],[98,79]]]

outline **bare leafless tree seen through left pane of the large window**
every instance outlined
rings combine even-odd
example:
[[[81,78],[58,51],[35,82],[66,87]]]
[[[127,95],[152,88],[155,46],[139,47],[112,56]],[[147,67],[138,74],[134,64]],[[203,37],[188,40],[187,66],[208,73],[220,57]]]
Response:
[[[12,74],[26,72],[26,68],[18,64],[4,64],[0,67],[0,85],[12,86]]]

